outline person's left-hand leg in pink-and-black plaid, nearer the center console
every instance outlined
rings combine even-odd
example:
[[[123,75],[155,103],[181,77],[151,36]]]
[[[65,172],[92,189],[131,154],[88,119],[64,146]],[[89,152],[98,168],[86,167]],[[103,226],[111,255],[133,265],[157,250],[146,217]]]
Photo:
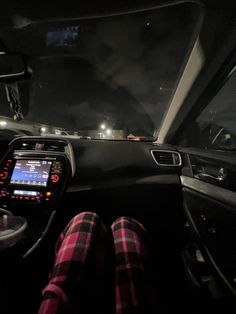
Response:
[[[106,233],[95,213],[84,212],[70,221],[56,244],[54,266],[38,313],[65,313],[78,308],[79,313],[89,313],[97,301],[93,297],[104,268]]]

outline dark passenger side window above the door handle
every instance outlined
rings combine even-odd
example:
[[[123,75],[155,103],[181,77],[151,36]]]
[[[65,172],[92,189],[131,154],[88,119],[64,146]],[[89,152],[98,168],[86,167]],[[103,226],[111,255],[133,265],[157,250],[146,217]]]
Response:
[[[236,73],[184,133],[187,146],[236,149]]]

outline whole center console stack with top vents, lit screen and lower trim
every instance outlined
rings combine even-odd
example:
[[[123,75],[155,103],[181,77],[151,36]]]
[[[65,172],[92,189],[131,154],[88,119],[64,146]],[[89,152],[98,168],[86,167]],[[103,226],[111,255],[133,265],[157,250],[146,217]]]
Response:
[[[50,138],[13,141],[0,164],[0,207],[27,220],[24,251],[49,229],[73,175],[70,143]]]

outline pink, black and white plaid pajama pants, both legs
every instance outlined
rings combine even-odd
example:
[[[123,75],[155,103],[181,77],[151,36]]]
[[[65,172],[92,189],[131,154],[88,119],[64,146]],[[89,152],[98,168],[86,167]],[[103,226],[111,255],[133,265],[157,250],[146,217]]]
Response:
[[[95,213],[84,212],[70,221],[57,241],[39,314],[150,313],[146,231],[129,217],[114,221],[111,231]],[[109,266],[114,286],[105,280]],[[109,302],[110,310],[104,307]]]

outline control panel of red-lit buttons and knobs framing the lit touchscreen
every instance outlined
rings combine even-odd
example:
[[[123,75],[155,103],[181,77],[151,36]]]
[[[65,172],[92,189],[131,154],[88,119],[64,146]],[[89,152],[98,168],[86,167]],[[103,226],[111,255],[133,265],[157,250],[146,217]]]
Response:
[[[14,152],[1,167],[1,203],[11,209],[55,205],[68,172],[65,163],[62,156]]]

